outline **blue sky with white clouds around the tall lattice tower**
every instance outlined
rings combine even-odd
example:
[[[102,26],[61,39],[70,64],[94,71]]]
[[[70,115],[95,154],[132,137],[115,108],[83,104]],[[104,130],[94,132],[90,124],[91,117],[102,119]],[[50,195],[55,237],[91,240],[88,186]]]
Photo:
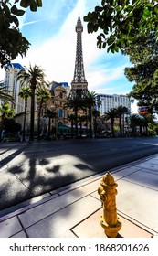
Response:
[[[75,67],[75,26],[80,16],[83,60],[86,80],[90,91],[105,94],[127,94],[132,83],[125,75],[125,67],[131,66],[129,58],[121,53],[106,53],[97,48],[97,34],[88,34],[83,16],[93,11],[101,0],[43,0],[43,7],[36,13],[29,10],[20,20],[20,29],[31,43],[26,57],[13,62],[28,67],[37,64],[45,70],[48,81],[73,80]],[[1,79],[2,80],[2,79]]]

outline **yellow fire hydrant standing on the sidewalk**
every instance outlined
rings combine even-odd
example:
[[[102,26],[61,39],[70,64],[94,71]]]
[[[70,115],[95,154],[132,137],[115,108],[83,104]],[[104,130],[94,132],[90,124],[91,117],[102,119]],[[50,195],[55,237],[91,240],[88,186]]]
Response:
[[[113,176],[107,173],[100,181],[98,193],[103,207],[103,215],[100,216],[100,225],[109,238],[116,238],[121,229],[121,220],[117,217],[116,195],[117,183]]]

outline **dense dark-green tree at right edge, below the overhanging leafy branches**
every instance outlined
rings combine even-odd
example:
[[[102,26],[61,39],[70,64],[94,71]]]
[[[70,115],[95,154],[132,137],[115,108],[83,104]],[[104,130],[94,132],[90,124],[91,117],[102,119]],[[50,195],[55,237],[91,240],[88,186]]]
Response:
[[[125,68],[125,75],[129,81],[134,81],[129,96],[139,101],[140,106],[148,106],[149,112],[153,107],[158,109],[158,42],[155,33],[146,37],[142,35],[134,39],[128,48],[122,50],[130,56],[133,66]]]

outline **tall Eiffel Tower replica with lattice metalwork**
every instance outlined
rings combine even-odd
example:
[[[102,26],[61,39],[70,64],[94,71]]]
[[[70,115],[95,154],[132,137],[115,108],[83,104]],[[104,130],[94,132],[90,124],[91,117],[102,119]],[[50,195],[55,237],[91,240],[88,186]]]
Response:
[[[74,77],[71,82],[71,94],[82,95],[88,91],[88,82],[85,78],[84,64],[83,64],[83,53],[82,53],[82,32],[83,26],[81,24],[80,17],[76,25],[77,32],[77,47],[76,47],[76,60],[75,60],[75,70]]]

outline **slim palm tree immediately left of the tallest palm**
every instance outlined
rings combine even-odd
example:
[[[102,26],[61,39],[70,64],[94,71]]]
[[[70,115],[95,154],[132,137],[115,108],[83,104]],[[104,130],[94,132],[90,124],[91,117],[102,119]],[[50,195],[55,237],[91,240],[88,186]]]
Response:
[[[31,96],[31,89],[29,87],[22,87],[21,91],[18,94],[25,101],[24,106],[24,123],[23,123],[23,141],[25,141],[26,135],[26,108],[27,108],[27,100]]]

